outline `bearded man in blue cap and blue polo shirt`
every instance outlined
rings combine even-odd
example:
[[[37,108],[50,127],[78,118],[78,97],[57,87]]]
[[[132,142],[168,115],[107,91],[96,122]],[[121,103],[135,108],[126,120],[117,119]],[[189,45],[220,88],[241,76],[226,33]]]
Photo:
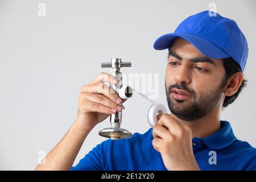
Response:
[[[228,121],[220,121],[221,109],[246,85],[246,38],[234,20],[210,15],[189,16],[174,34],[154,43],[155,49],[169,51],[170,115],[158,115],[159,122],[144,134],[98,144],[72,167],[93,127],[122,109],[122,100],[102,84],[116,84],[114,78],[101,73],[82,86],[75,123],[36,169],[255,170],[256,149],[238,140]]]

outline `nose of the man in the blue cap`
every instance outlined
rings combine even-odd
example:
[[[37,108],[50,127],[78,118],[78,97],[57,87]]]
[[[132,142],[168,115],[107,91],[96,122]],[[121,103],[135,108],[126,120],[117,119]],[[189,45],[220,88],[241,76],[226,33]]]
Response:
[[[189,65],[182,64],[179,66],[179,68],[176,68],[175,81],[177,83],[183,82],[184,84],[189,84],[191,82]]]

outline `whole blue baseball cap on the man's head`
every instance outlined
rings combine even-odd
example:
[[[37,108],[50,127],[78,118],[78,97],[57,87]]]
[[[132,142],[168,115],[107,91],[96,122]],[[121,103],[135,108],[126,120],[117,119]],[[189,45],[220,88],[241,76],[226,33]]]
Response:
[[[203,11],[183,20],[174,33],[160,36],[155,43],[156,50],[167,49],[174,40],[183,38],[192,43],[205,56],[216,59],[232,57],[245,69],[248,44],[237,23],[218,13]]]

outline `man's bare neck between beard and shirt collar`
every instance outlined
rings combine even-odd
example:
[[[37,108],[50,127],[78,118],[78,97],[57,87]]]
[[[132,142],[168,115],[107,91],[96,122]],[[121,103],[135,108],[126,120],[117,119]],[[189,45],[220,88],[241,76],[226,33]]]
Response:
[[[195,121],[184,121],[171,114],[177,121],[190,127],[192,131],[192,138],[205,138],[220,130],[220,112],[221,107],[216,107],[205,117],[196,119]]]

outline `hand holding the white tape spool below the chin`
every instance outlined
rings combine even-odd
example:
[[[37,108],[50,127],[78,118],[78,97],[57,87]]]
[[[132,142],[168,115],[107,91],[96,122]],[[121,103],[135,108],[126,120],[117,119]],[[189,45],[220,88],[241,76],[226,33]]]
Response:
[[[170,114],[158,115],[153,127],[152,145],[162,155],[168,170],[200,170],[192,147],[191,129]]]

